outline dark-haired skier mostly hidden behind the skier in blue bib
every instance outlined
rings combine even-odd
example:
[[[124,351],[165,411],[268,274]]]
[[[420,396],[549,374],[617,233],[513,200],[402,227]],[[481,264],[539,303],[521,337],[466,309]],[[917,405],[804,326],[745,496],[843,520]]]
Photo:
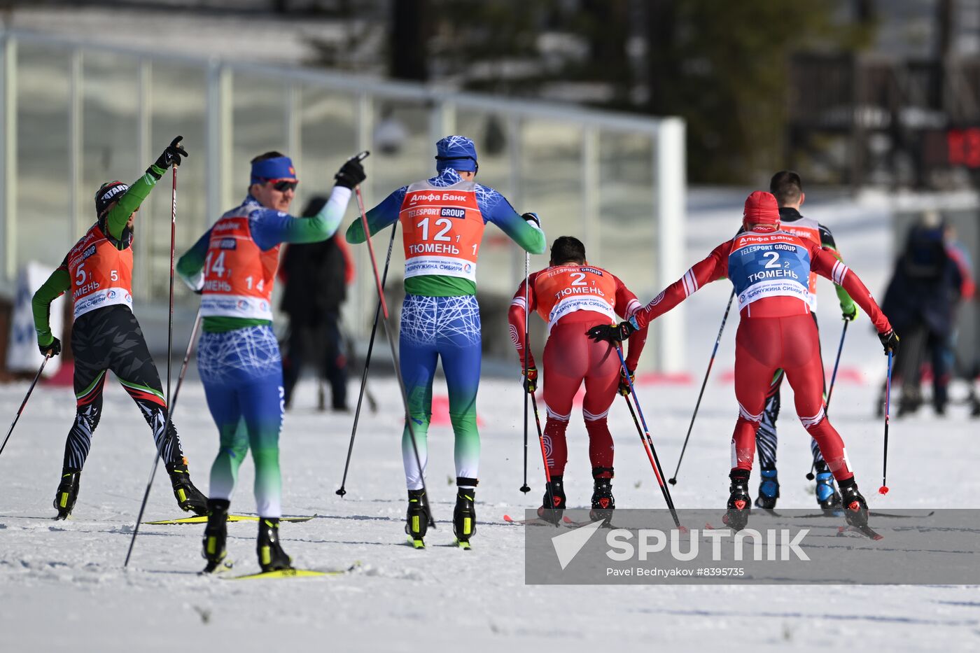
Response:
[[[841,260],[841,255],[837,251],[837,243],[834,242],[834,236],[830,229],[820,225],[812,218],[805,218],[800,214],[800,207],[806,200],[806,195],[803,192],[803,180],[799,175],[785,170],[776,173],[769,181],[769,192],[775,196],[776,202],[779,204],[779,224],[783,231],[792,233],[804,240],[815,242],[829,249],[838,260]],[[809,273],[809,309],[814,326],[818,326],[816,323],[816,276],[815,272]],[[851,299],[848,291],[836,283],[834,289],[837,291],[837,299],[840,302],[844,320],[851,321],[857,318],[858,306]],[[817,340],[817,354],[819,355],[819,353],[819,340]],[[822,364],[820,370],[823,370]],[[765,410],[762,411],[762,422],[759,431],[756,433],[760,467],[759,496],[756,498],[756,505],[766,509],[775,508],[776,499],[779,498],[779,477],[776,473],[776,419],[779,417],[779,388],[782,385],[783,376],[783,371],[777,370],[775,377],[769,384],[769,392],[765,398]],[[826,383],[821,382],[821,386],[826,391]],[[810,448],[813,453],[813,472],[816,475],[816,502],[824,510],[838,508],[841,505],[841,495],[834,488],[834,477],[827,469],[823,456],[820,455],[820,448],[816,445],[816,440],[810,440]]]

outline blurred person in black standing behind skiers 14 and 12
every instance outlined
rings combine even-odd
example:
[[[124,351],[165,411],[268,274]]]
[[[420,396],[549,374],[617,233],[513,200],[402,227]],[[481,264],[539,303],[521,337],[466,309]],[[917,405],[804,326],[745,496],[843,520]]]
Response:
[[[315,216],[327,198],[313,197],[303,210]],[[305,363],[317,366],[320,380],[330,383],[331,406],[347,408],[347,357],[340,334],[340,307],[347,286],[354,280],[354,261],[343,235],[309,244],[291,243],[279,265],[284,283],[280,309],[289,316],[289,333],[282,355],[282,380],[286,407]],[[319,409],[324,410],[320,395]]]

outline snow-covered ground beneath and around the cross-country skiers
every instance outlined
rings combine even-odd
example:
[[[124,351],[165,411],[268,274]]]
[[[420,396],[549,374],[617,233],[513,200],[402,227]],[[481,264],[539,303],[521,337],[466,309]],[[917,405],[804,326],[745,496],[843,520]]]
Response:
[[[695,207],[689,228],[692,262],[737,226],[743,198],[742,193],[723,193],[716,209],[711,202]],[[834,228],[849,263],[880,293],[889,272],[887,206],[828,202],[811,207],[809,214]],[[821,282],[820,290],[829,366],[841,323],[829,283]],[[688,302],[688,361],[695,380],[639,388],[668,474],[729,292],[730,286],[716,283]],[[928,411],[893,422],[892,492],[887,497],[875,494],[882,425],[872,412],[885,364],[877,338],[866,319],[861,320],[848,335],[842,365],[849,372],[835,390],[831,414],[872,508],[977,507],[980,480],[975,456],[969,453],[977,423],[961,406],[944,422]],[[728,440],[737,409],[724,378],[731,370],[734,322],[726,328],[673,488],[678,507],[720,508],[726,498]],[[380,410],[362,417],[346,498],[334,490],[343,471],[351,417],[317,413],[312,383],[301,387],[281,439],[284,510],[318,515],[283,527],[285,549],[302,567],[361,566],[330,578],[247,582],[195,575],[203,566],[203,528],[198,526],[142,527],[130,567],[123,571],[152,448],[148,428],[115,385],[106,393],[105,414],[73,520],[51,521],[73,396],[68,388],[40,387],[0,458],[2,649],[627,651],[727,644],[745,650],[825,650],[859,642],[890,651],[980,650],[976,587],[525,585],[523,530],[506,525],[502,517],[538,504],[543,473],[532,440],[529,481],[534,491],[526,497],[518,491],[522,400],[515,380],[486,379],[481,387],[480,523],[473,550],[448,546],[455,495],[452,432],[448,426],[434,426],[428,483],[439,525],[427,537],[429,548],[416,551],[405,545],[403,531],[397,389],[385,378],[372,379],[371,387]],[[0,388],[0,415],[13,417],[25,389],[25,384]],[[791,405],[789,390],[784,391],[784,406]],[[181,391],[175,421],[193,477],[206,488],[217,437],[197,380]],[[806,432],[789,410],[780,424],[780,506],[809,508],[813,498],[804,478],[809,468]],[[617,445],[617,505],[661,507],[660,492],[621,403],[613,408],[611,425]],[[568,435],[569,504],[586,505],[591,482],[584,427],[573,422]],[[233,503],[236,512],[254,511],[252,478],[251,463],[246,463]],[[147,519],[182,516],[174,508],[166,475],[160,475]],[[254,524],[229,525],[229,554],[238,573],[257,570],[254,536]]]

